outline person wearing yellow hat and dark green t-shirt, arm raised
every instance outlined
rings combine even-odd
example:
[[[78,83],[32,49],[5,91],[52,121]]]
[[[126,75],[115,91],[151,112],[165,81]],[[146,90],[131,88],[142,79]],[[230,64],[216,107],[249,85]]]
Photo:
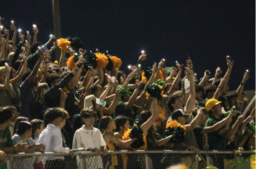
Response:
[[[209,112],[209,118],[206,121],[205,126],[213,126],[214,124],[220,122],[221,116],[223,115],[221,109],[221,101],[217,99],[209,99],[205,103],[205,108]],[[233,109],[231,109],[233,113]],[[229,140],[235,132],[238,130],[239,125],[244,121],[244,116],[239,116],[238,120],[235,122],[233,126],[230,128],[226,128],[226,126],[222,126],[217,131],[213,131],[211,133],[207,133],[208,137],[208,150],[221,150],[224,151],[227,148],[226,140]]]

